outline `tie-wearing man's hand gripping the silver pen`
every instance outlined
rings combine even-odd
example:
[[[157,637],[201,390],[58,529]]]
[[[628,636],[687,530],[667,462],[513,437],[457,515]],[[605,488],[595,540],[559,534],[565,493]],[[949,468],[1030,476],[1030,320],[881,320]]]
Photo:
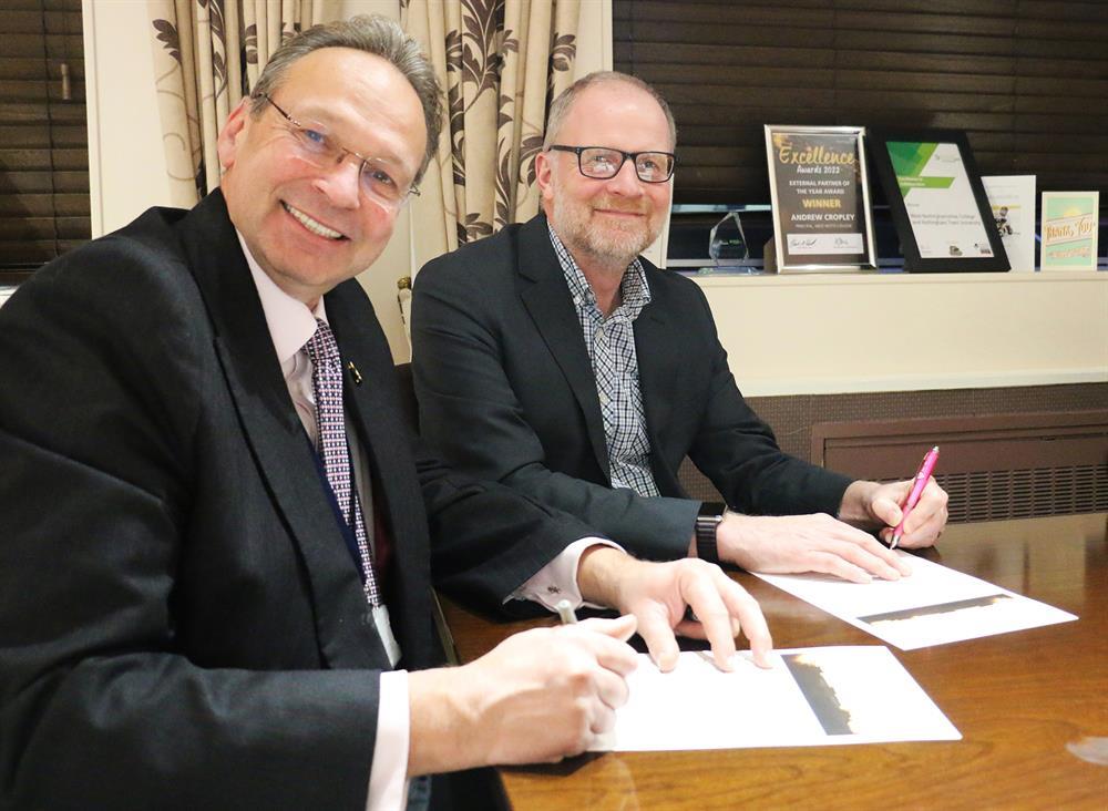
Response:
[[[463,667],[409,674],[409,777],[585,751],[627,701],[634,633],[629,616],[535,628]]]

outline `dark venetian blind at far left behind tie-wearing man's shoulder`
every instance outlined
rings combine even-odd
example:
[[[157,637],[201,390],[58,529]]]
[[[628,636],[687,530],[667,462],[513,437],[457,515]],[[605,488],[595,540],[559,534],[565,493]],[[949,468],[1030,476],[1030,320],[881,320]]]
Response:
[[[89,238],[81,0],[3,0],[0,32],[0,274],[7,275]]]

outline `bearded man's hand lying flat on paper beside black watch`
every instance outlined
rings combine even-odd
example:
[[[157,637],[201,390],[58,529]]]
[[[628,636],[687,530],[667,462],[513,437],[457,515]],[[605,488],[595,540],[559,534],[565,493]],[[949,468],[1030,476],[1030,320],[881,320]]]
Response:
[[[873,577],[895,581],[912,573],[895,552],[882,546],[873,535],[827,514],[727,513],[716,531],[716,543],[720,560],[748,572],[819,572],[853,583],[869,583]]]

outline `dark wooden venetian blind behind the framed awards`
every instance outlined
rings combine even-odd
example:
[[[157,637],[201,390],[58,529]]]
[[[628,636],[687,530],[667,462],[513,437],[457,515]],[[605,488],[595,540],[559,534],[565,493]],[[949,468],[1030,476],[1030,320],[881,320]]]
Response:
[[[968,133],[983,174],[1108,204],[1108,2],[614,0],[674,109],[678,203],[768,203],[763,124]]]

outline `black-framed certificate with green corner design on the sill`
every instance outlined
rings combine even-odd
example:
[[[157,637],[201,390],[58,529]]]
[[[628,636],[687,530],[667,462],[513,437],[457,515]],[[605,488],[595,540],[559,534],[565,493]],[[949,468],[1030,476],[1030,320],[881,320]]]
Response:
[[[868,143],[901,240],[905,270],[1008,269],[965,133],[873,131]]]

